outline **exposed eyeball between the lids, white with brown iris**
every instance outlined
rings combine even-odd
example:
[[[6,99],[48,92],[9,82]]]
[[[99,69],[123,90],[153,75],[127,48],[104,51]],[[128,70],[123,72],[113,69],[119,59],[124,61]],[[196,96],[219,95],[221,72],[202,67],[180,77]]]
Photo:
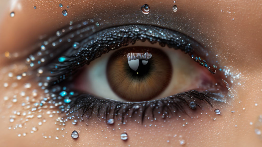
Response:
[[[212,73],[180,50],[148,41],[131,46],[111,51],[85,66],[75,87],[101,98],[147,101],[206,88],[214,82]]]

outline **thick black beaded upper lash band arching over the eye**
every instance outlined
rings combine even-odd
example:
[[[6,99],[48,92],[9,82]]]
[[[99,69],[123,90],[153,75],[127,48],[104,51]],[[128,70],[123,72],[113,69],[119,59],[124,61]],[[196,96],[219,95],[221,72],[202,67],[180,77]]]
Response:
[[[131,33],[130,33],[131,32]],[[69,75],[72,75],[79,67],[89,64],[92,60],[100,57],[102,54],[118,49],[128,44],[134,44],[137,40],[150,41],[161,46],[167,45],[170,48],[181,49],[189,54],[200,65],[205,66],[209,71],[215,73],[216,66],[209,66],[205,60],[197,57],[194,51],[205,52],[201,46],[182,33],[162,29],[155,26],[146,25],[127,25],[105,29],[95,33],[79,44],[79,49],[69,48],[63,54],[65,61],[55,63],[51,66],[53,84],[63,81]]]

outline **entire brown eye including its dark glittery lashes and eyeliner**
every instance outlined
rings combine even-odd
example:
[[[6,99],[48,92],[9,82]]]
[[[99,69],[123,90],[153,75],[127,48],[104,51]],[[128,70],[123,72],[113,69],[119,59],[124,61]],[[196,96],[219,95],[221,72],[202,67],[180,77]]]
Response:
[[[63,100],[60,108],[68,115],[122,121],[136,115],[143,121],[225,101],[227,88],[214,74],[211,53],[192,38],[156,26],[95,31],[99,23],[87,24],[58,31],[41,46],[39,58],[55,61],[39,78],[49,83],[53,103]]]

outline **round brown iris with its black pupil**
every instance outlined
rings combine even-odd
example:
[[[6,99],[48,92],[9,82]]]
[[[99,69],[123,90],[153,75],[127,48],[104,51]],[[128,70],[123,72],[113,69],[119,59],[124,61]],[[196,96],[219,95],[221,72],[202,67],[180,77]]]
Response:
[[[130,53],[151,53],[148,62],[139,59],[138,68],[128,64]],[[137,69],[137,70],[135,70]],[[168,56],[160,49],[127,47],[114,52],[107,63],[107,80],[113,91],[128,101],[147,101],[159,95],[170,83],[172,66]]]

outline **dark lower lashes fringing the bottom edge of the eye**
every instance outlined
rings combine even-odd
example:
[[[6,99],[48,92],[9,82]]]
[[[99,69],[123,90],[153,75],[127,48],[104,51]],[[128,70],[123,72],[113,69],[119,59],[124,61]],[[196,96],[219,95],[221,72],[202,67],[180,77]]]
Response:
[[[216,93],[208,91],[198,92],[190,90],[188,92],[175,94],[166,98],[144,101],[144,102],[122,102],[110,99],[95,98],[89,94],[75,94],[66,99],[72,100],[69,104],[64,104],[66,113],[80,113],[79,115],[90,118],[93,114],[97,117],[125,121],[126,117],[139,116],[141,122],[145,117],[151,116],[155,119],[159,115],[162,118],[171,117],[174,114],[187,114],[187,109],[196,109],[204,103],[212,107],[211,101],[215,101]],[[58,98],[59,99],[59,98]],[[61,98],[60,98],[61,99]]]

